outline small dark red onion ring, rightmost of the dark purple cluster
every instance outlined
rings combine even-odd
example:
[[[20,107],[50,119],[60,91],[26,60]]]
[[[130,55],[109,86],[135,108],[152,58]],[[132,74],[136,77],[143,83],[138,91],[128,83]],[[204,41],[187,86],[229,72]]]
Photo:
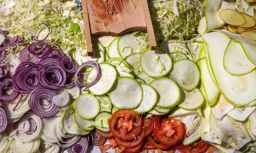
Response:
[[[61,67],[62,69],[64,69],[64,71],[69,72],[69,73],[74,73],[76,72],[78,66],[76,64],[76,61],[74,61],[73,59],[64,56],[63,58],[61,58]]]

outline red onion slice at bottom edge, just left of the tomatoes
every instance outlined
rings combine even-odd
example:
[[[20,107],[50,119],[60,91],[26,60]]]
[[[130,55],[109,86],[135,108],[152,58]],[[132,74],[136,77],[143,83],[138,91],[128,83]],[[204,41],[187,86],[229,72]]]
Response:
[[[68,153],[87,153],[89,149],[88,135],[81,138],[72,146],[67,148]]]

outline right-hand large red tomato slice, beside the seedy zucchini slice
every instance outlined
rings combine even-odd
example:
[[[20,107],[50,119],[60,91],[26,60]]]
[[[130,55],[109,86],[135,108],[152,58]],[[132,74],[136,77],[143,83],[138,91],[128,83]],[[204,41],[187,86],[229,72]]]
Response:
[[[152,130],[157,141],[169,146],[178,144],[186,133],[183,122],[175,118],[162,118],[162,116],[154,116]]]

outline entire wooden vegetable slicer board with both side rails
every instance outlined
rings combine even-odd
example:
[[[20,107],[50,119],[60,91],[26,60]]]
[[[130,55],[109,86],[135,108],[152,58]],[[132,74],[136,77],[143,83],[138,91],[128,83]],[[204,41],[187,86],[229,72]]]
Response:
[[[157,49],[147,0],[81,0],[81,3],[88,56],[93,56],[91,37],[121,36],[136,30],[147,30],[151,49]],[[105,22],[109,32],[106,32],[104,23],[97,17]]]

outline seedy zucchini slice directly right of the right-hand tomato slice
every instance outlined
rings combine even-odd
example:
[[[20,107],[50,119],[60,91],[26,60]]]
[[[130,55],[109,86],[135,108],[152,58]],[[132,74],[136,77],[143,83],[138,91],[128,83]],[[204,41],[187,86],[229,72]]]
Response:
[[[189,118],[191,118],[191,116],[189,116]],[[185,135],[185,138],[182,140],[182,143],[185,146],[192,144],[201,138],[201,131],[200,131],[201,118],[202,118],[201,116],[197,116],[195,119],[190,120],[189,124],[185,124],[186,125],[186,135]]]

